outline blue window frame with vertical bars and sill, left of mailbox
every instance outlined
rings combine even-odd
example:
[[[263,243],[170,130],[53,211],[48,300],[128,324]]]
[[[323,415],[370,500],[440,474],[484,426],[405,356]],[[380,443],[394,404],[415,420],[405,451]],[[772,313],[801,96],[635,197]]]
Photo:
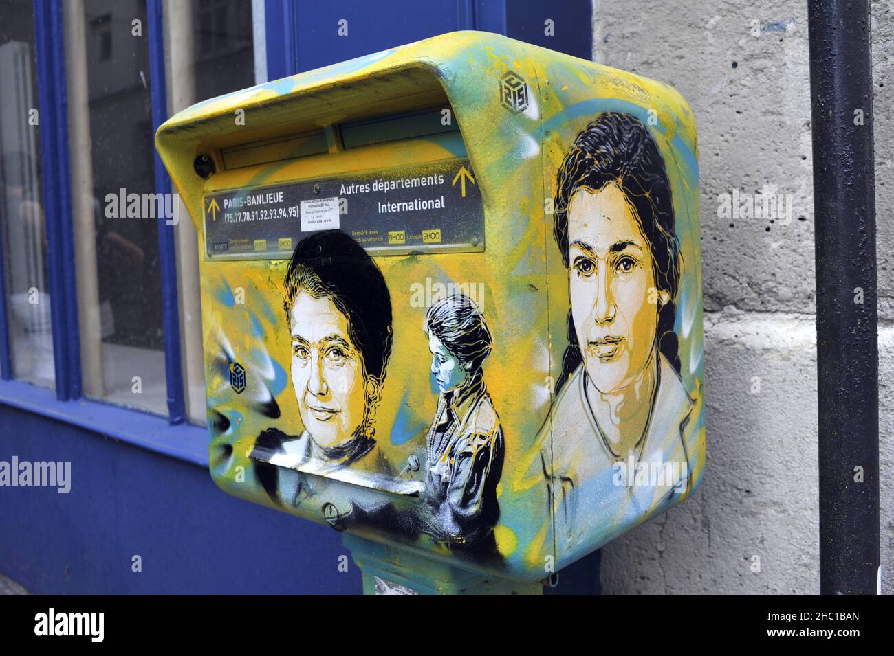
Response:
[[[69,192],[71,177],[63,4],[58,0],[34,0],[33,7],[55,393],[12,379],[8,306],[3,299],[4,302],[0,303],[0,403],[89,428],[207,467],[205,428],[183,424],[185,412],[174,238],[173,229],[165,224],[163,215],[158,219],[158,238],[167,418],[82,399],[78,291]],[[153,129],[156,129],[167,118],[163,0],[148,0],[147,12],[148,24],[145,27],[149,46],[149,75],[153,80],[151,111]],[[170,193],[171,180],[157,154],[154,173],[156,193]],[[4,253],[3,244],[0,243],[0,289],[5,293]]]

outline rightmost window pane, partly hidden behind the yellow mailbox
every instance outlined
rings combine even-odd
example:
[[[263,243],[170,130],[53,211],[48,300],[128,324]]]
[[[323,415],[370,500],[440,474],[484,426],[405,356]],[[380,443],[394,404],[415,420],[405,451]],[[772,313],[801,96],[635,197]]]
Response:
[[[171,112],[255,84],[251,0],[169,0],[164,4]],[[185,209],[181,216],[187,216]],[[196,230],[176,228],[178,298],[186,411],[206,421]]]

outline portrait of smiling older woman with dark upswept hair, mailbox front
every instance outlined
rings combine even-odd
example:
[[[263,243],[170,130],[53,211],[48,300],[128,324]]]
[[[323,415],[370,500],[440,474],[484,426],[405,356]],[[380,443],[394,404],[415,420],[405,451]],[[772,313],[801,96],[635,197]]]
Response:
[[[269,428],[258,436],[252,457],[263,461],[262,483],[283,494],[269,466],[387,473],[374,425],[392,349],[391,296],[381,271],[348,235],[326,230],[299,242],[283,287],[303,430],[291,436]]]

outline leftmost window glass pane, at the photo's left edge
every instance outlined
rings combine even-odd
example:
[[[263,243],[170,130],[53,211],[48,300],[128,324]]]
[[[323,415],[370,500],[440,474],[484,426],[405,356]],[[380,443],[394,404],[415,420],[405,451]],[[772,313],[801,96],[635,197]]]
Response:
[[[53,334],[30,0],[0,0],[0,80],[0,222],[13,376],[52,387]]]

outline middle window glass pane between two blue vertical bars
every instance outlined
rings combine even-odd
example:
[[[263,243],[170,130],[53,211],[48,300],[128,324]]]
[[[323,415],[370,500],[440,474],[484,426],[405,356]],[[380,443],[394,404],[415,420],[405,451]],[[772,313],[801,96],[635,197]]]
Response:
[[[84,390],[166,414],[146,1],[64,22]]]

